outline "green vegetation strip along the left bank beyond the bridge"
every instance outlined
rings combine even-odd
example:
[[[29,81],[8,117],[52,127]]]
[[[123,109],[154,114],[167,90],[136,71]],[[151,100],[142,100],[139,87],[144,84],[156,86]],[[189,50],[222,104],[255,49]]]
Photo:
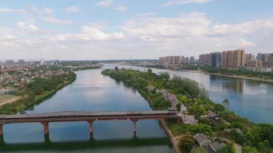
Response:
[[[75,79],[76,74],[71,71],[67,74],[55,75],[50,79],[36,78],[32,83],[26,85],[24,91],[18,93],[22,99],[0,107],[0,114],[23,113],[24,110],[38,104],[39,100],[72,83]]]

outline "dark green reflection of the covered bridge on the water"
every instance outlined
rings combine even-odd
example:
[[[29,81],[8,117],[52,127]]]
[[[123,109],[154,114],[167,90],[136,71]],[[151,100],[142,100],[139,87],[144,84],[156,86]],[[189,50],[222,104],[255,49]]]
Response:
[[[3,139],[3,137],[2,137]],[[171,143],[167,137],[148,137],[139,138],[134,135],[129,139],[102,139],[96,140],[92,136],[86,141],[52,141],[49,136],[45,136],[44,142],[37,143],[6,143],[1,141],[2,151],[30,151],[30,150],[77,150],[77,149],[94,149],[94,148],[122,148],[126,147],[145,147],[145,146],[164,146]]]

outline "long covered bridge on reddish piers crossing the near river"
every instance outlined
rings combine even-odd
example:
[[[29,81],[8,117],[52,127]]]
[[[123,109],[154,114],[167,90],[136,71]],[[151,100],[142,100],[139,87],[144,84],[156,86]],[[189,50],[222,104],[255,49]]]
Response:
[[[43,125],[44,134],[49,133],[50,122],[87,121],[89,132],[93,134],[94,121],[129,120],[133,122],[133,130],[136,132],[136,122],[144,119],[177,119],[179,116],[175,110],[164,111],[122,111],[122,112],[87,112],[64,111],[40,114],[0,115],[0,136],[3,135],[4,124],[39,122]]]

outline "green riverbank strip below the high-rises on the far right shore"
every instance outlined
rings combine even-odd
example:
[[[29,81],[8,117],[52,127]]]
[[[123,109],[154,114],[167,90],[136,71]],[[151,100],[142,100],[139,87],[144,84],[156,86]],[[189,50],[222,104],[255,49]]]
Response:
[[[254,77],[247,77],[245,75],[226,75],[226,74],[221,74],[221,73],[205,72],[205,71],[202,71],[202,70],[188,70],[188,69],[181,69],[181,70],[182,71],[187,71],[187,72],[217,75],[217,76],[221,76],[221,77],[231,77],[231,78],[248,79],[248,80],[255,80],[255,81],[261,81],[261,82],[273,83],[273,79],[260,79],[260,78],[254,78]]]

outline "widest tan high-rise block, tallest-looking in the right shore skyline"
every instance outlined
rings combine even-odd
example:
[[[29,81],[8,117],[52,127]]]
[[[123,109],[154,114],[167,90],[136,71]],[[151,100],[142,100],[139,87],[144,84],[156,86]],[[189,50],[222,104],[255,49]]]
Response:
[[[230,51],[223,51],[223,68],[235,68],[237,69],[239,66],[245,65],[245,50],[237,49]]]

